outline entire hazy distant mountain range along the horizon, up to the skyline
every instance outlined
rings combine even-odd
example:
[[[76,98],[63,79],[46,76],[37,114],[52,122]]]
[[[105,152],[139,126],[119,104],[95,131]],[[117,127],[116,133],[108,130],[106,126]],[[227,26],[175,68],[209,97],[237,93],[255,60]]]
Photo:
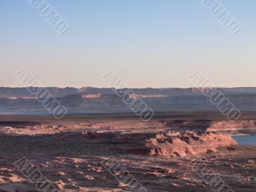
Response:
[[[39,89],[39,88],[34,88]],[[111,88],[57,88],[47,90],[68,109],[68,113],[103,113],[131,111],[122,97]],[[256,111],[256,88],[218,88],[240,110]],[[120,90],[119,90],[120,91]],[[165,110],[216,110],[202,88],[132,88],[131,99],[140,97],[156,111]],[[0,87],[0,114],[45,113],[35,95],[27,88]]]

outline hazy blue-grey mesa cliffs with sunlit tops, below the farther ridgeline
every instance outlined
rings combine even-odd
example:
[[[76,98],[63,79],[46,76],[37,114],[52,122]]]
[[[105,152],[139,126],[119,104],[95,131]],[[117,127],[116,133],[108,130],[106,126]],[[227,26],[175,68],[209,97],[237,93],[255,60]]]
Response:
[[[89,96],[86,96],[89,95]],[[93,96],[94,95],[94,96]],[[165,95],[131,95],[133,100],[140,97],[147,106],[154,111],[170,111],[170,110],[218,110],[216,105],[212,104],[208,97],[198,95],[180,95],[180,96],[165,96]],[[256,94],[244,95],[226,95],[226,97],[241,111],[256,110]],[[131,111],[129,106],[124,103],[122,97],[115,94],[83,94],[83,95],[68,95],[66,97],[56,97],[68,111],[76,112],[95,112],[104,110],[119,110]],[[36,99],[8,99],[0,98],[0,110],[15,109],[19,106],[20,109],[47,110]],[[90,109],[90,110],[89,110]],[[10,111],[17,112],[17,111]],[[24,111],[26,113],[26,111]]]

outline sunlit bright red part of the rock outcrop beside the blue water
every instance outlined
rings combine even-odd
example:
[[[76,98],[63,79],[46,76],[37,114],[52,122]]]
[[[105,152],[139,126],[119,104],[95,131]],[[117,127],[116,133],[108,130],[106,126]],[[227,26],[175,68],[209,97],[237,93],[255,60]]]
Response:
[[[157,134],[147,140],[146,148],[154,156],[187,156],[202,154],[207,151],[216,152],[219,147],[237,145],[228,134],[214,132],[178,132]]]

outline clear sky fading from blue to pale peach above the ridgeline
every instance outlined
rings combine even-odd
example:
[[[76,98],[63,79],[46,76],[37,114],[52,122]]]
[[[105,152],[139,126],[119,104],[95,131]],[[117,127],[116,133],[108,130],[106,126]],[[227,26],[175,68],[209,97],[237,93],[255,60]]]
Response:
[[[131,87],[191,87],[200,70],[216,86],[256,86],[256,1],[220,2],[241,22],[228,33],[197,0],[47,1],[67,20],[60,35],[26,0],[0,0],[0,86],[105,87],[113,70]]]

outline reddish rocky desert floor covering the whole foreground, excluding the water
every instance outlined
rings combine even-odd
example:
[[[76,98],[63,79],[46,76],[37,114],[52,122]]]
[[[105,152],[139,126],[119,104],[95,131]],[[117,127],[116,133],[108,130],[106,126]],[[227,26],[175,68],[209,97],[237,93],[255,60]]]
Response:
[[[239,134],[256,134],[254,113],[0,116],[0,191],[255,191]]]

